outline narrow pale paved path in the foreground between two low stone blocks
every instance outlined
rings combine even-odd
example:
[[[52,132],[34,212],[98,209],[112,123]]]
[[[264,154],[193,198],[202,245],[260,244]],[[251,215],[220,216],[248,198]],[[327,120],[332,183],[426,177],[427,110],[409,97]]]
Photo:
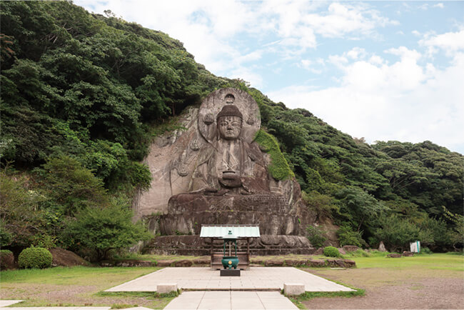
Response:
[[[278,291],[184,291],[164,309],[298,309],[298,307]]]

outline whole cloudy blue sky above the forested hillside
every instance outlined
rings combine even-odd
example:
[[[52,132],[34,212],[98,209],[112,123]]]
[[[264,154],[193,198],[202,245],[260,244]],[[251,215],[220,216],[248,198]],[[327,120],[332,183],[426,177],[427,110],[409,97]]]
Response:
[[[464,1],[75,0],[346,134],[464,154]]]

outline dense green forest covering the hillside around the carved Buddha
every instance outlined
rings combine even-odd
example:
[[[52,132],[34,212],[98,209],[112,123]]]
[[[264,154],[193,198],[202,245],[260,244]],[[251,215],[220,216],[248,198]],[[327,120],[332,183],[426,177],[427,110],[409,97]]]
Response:
[[[214,76],[167,34],[66,1],[1,1],[0,245],[96,259],[151,236],[131,223],[140,161],[175,116],[222,87],[247,91],[318,223],[341,244],[462,247],[463,156],[424,141],[373,145],[245,81]],[[308,227],[322,244],[323,225]],[[122,232],[121,232],[122,231]]]

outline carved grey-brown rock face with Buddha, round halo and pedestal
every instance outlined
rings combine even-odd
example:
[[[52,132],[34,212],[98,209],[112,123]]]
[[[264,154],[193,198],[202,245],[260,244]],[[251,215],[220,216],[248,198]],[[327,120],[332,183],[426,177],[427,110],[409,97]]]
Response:
[[[153,181],[134,201],[136,219],[161,215],[151,229],[169,236],[198,235],[202,224],[257,224],[263,235],[298,236],[313,223],[298,183],[268,172],[270,156],[253,141],[261,117],[249,94],[214,91],[181,126],[151,146],[146,164]],[[278,240],[276,249],[286,246]]]

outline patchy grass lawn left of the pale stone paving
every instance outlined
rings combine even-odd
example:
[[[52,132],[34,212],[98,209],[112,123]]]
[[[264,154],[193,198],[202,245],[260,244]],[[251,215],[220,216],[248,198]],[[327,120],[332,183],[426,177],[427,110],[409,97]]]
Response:
[[[156,271],[156,267],[56,267],[0,272],[0,299],[24,299],[15,306],[145,306],[163,309],[173,296],[101,293]]]

